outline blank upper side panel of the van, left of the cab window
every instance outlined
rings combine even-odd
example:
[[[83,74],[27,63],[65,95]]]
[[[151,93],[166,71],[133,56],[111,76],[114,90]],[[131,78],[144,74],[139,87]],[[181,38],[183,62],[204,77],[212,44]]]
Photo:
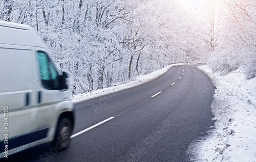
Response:
[[[25,49],[0,48],[0,93],[30,90],[27,84],[32,82],[32,52]]]

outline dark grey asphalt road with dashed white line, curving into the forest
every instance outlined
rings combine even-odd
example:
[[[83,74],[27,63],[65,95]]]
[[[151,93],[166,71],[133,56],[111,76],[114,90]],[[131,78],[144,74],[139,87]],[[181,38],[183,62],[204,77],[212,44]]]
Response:
[[[188,161],[189,144],[214,125],[214,89],[195,65],[175,66],[150,83],[76,104],[67,150],[46,144],[8,161]]]

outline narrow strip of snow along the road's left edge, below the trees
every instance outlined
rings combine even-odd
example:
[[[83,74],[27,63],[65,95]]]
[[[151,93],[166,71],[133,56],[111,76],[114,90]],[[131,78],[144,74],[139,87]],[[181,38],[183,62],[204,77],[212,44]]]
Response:
[[[129,83],[126,84],[121,84],[115,87],[109,87],[109,88],[104,88],[101,90],[96,90],[93,92],[88,92],[88,93],[83,93],[80,95],[74,95],[72,96],[72,100],[74,103],[79,103],[82,101],[86,101],[89,99],[93,99],[93,98],[97,98],[100,96],[104,96],[104,95],[108,95],[111,93],[115,93],[115,92],[119,92],[122,90],[126,90],[132,87],[136,87],[142,84],[145,84],[147,82],[151,82],[152,80],[156,79],[157,77],[161,76],[162,74],[164,74],[166,71],[169,70],[169,68],[174,67],[174,66],[178,66],[178,65],[193,65],[193,64],[184,64],[184,63],[179,63],[179,64],[172,64],[172,65],[168,65],[163,69],[159,69],[156,71],[153,71],[150,74],[146,74],[146,75],[138,75],[135,77],[134,80],[132,80]]]

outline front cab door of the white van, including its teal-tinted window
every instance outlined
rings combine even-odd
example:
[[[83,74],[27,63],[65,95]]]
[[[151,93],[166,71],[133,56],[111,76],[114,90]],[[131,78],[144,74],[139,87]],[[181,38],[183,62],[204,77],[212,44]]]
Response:
[[[61,107],[58,105],[68,98],[69,91],[59,90],[58,71],[56,70],[47,52],[38,50],[36,52],[36,62],[40,86],[37,90],[37,112],[36,125],[38,129],[49,128],[50,136],[55,133],[58,115]]]

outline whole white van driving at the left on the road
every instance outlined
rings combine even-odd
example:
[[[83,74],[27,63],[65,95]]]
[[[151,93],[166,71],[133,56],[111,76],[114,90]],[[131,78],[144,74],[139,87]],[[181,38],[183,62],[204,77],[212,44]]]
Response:
[[[74,104],[67,77],[32,28],[0,21],[0,158],[42,143],[69,146]]]

